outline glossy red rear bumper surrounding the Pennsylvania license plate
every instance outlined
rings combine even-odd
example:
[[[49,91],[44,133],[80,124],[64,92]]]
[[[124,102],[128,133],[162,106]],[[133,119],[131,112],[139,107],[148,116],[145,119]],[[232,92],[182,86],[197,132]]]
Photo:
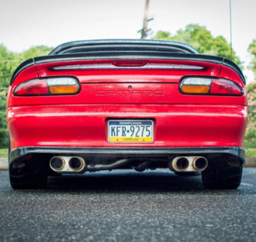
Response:
[[[154,142],[113,144],[109,119],[151,119]],[[91,104],[9,107],[11,150],[23,147],[214,148],[243,147],[247,107],[242,105]]]

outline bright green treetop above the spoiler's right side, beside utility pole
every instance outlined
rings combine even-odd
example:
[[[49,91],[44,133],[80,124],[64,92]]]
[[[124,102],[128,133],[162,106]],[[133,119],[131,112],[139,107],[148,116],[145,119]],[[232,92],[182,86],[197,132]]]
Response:
[[[211,32],[204,26],[185,26],[185,29],[179,29],[175,36],[172,36],[170,32],[158,31],[152,39],[165,39],[186,43],[199,53],[231,59],[230,44],[227,43],[227,40],[224,39],[223,36],[214,38]],[[242,63],[234,52],[234,49],[232,49],[232,53],[232,60],[242,69]]]

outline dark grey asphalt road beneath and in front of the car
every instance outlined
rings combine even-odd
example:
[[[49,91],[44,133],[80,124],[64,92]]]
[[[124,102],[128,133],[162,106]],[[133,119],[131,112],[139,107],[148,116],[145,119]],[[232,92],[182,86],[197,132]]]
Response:
[[[0,172],[1,241],[256,241],[256,169],[237,190],[167,170],[98,172],[12,190]]]

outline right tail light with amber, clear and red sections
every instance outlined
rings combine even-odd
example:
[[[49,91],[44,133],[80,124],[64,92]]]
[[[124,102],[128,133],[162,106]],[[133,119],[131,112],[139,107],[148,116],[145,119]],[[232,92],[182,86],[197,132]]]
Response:
[[[241,96],[244,91],[231,80],[207,77],[185,77],[180,84],[182,94]]]

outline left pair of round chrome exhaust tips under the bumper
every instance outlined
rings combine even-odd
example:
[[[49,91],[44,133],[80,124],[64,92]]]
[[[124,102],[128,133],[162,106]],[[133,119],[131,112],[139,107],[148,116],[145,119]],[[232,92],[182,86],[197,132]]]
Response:
[[[50,168],[54,172],[81,172],[85,169],[85,160],[78,156],[54,156],[50,159]]]

